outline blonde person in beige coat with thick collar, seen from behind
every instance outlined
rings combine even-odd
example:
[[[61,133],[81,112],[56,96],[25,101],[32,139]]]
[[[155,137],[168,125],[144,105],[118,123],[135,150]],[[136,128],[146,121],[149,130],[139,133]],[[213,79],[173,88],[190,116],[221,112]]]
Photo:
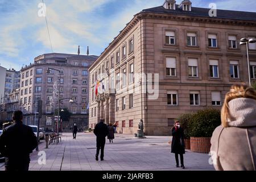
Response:
[[[256,170],[256,90],[233,85],[221,109],[221,126],[210,140],[217,171]]]

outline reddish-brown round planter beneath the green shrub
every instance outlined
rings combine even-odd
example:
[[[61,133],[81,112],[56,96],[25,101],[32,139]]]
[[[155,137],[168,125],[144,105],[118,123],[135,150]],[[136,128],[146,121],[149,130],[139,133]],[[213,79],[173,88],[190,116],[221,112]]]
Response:
[[[210,137],[191,137],[190,148],[193,152],[208,154],[210,152]]]

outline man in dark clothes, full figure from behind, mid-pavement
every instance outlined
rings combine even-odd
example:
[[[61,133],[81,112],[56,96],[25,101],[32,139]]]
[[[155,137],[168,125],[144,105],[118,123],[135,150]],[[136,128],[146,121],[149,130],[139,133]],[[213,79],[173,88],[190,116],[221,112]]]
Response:
[[[93,133],[96,135],[97,139],[97,152],[96,152],[96,160],[98,160],[98,154],[101,150],[101,161],[104,160],[104,147],[106,143],[106,136],[109,134],[108,126],[104,123],[104,119],[100,120],[100,123],[98,123],[95,126],[95,129],[93,130]]]

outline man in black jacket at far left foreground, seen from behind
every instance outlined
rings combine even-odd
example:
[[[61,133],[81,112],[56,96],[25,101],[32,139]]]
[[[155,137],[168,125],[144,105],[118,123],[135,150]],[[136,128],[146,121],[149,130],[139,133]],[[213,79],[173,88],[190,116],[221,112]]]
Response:
[[[38,141],[30,126],[23,125],[22,111],[14,111],[14,124],[3,130],[0,152],[5,156],[6,171],[28,171],[30,153]]]

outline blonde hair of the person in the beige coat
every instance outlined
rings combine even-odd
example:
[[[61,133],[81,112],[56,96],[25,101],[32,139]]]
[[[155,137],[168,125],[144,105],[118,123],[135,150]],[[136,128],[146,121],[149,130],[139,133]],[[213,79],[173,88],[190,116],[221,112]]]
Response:
[[[230,91],[226,94],[224,105],[221,109],[221,123],[223,127],[228,127],[228,119],[230,119],[229,101],[235,98],[252,98],[256,100],[256,90],[246,84],[231,86]]]

